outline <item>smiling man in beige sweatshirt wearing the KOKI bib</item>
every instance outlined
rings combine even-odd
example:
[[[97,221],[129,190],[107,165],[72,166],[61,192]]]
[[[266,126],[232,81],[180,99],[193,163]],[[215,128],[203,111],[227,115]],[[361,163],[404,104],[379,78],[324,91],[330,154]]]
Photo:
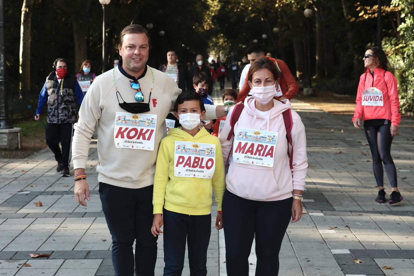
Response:
[[[79,110],[72,142],[75,198],[87,206],[85,165],[98,123],[99,196],[112,235],[116,275],[154,275],[157,243],[151,235],[152,190],[165,118],[181,93],[176,82],[147,66],[149,39],[140,25],[120,33],[118,66],[96,77]],[[228,106],[227,106],[228,108]],[[224,106],[206,105],[206,117],[226,115]],[[168,173],[168,172],[166,172]]]

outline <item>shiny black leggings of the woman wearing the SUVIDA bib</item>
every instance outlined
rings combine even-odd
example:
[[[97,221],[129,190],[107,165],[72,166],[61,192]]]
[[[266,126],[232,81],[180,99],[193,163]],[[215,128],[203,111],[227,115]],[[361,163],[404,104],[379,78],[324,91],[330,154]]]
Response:
[[[397,187],[397,170],[391,157],[391,125],[364,125],[366,139],[372,154],[372,168],[378,187],[384,186],[384,170],[391,187]]]

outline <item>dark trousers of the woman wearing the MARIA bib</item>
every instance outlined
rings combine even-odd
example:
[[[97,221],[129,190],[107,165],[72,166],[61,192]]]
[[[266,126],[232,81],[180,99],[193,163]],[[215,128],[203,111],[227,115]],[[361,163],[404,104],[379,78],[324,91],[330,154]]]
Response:
[[[279,250],[292,216],[292,198],[255,201],[224,192],[222,209],[228,276],[248,276],[250,249],[256,239],[256,275],[279,273]]]

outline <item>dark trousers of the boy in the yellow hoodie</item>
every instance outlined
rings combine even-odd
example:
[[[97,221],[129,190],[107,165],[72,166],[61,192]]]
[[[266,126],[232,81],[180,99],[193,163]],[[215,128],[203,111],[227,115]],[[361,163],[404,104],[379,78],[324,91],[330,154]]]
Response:
[[[164,209],[164,276],[181,276],[185,240],[188,243],[190,276],[207,275],[207,247],[211,235],[211,214],[190,216]]]

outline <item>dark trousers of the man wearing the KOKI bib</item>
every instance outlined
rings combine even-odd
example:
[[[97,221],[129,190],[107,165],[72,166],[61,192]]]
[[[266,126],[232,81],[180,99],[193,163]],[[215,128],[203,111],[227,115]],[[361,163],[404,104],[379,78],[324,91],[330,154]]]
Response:
[[[151,234],[153,185],[128,189],[99,183],[99,197],[112,235],[112,263],[116,276],[153,276],[157,238]]]

